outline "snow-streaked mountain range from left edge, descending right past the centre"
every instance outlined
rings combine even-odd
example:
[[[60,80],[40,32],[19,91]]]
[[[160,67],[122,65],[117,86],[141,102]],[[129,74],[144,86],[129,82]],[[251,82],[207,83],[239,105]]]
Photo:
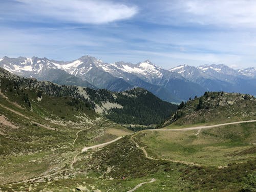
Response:
[[[69,62],[38,57],[4,57],[0,60],[0,67],[24,77],[94,89],[125,91],[142,87],[172,102],[180,102],[205,91],[199,84],[178,73],[161,69],[148,60],[133,65],[125,62],[105,63],[91,56]]]

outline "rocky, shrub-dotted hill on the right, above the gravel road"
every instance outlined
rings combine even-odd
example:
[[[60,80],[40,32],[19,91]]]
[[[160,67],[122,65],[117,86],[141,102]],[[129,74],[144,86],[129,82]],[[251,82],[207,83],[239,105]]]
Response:
[[[244,97],[244,94],[210,92],[201,97],[199,110],[200,98],[188,101],[163,126],[174,129],[256,119],[256,99]]]

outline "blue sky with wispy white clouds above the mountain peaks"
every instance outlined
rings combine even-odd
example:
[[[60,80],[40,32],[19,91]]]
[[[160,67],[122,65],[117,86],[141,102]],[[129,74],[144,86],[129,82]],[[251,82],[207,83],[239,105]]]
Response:
[[[256,67],[256,1],[0,0],[0,57]]]

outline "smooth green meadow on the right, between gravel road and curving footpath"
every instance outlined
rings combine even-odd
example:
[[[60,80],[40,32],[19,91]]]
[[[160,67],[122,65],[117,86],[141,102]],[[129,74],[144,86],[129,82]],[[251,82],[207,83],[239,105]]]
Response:
[[[253,122],[201,131],[147,131],[136,138],[146,147],[148,155],[156,158],[226,166],[255,159],[256,145],[252,144],[256,143],[255,135],[256,123]]]

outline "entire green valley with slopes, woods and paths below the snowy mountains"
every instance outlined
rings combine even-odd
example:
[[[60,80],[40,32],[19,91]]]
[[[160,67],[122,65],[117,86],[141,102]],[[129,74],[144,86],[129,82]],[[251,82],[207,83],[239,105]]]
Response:
[[[248,94],[205,92],[177,106],[141,88],[59,86],[3,69],[0,80],[0,191],[253,185],[256,105]]]

